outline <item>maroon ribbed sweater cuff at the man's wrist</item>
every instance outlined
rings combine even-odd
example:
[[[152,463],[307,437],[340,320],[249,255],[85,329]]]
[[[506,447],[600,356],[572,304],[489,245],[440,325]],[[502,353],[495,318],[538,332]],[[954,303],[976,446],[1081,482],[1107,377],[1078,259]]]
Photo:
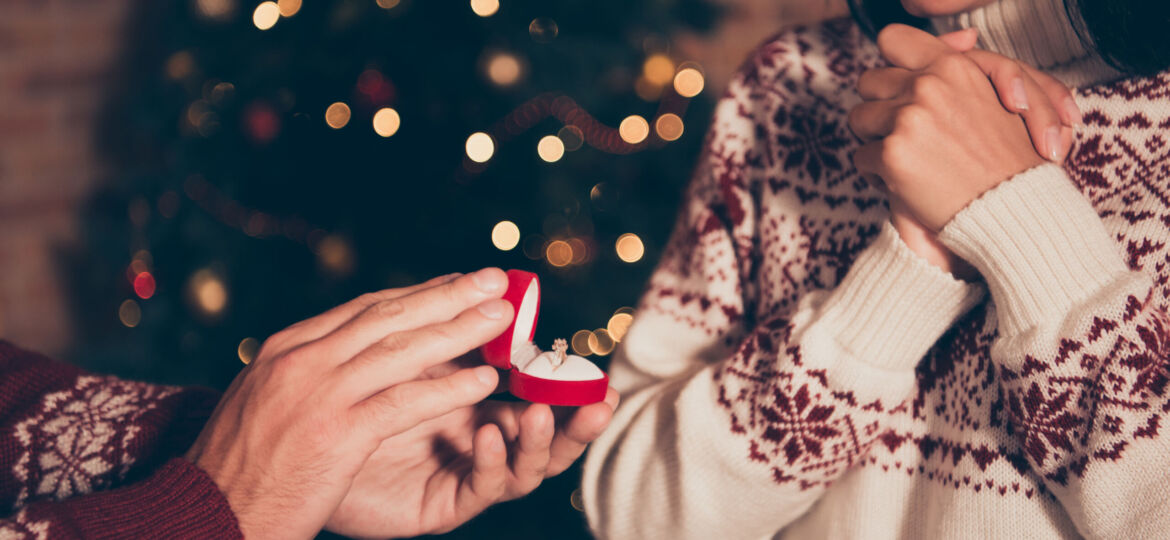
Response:
[[[117,490],[67,501],[84,531],[119,538],[242,539],[219,486],[193,463],[174,458]]]

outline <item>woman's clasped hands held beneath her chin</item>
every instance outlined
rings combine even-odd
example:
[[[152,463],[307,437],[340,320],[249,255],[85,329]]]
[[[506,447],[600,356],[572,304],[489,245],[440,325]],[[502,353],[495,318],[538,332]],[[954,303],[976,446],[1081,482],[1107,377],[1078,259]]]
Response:
[[[903,25],[883,29],[878,43],[894,67],[867,71],[859,83],[866,102],[851,111],[849,125],[869,143],[854,164],[881,176],[930,231],[987,189],[1042,164],[1035,148],[1058,160],[1067,152],[1072,131],[1062,119],[1074,120],[1067,102],[1058,109],[1047,94],[1053,89],[1018,63],[1003,68],[990,53],[959,53]],[[1041,133],[1035,146],[1030,130]]]

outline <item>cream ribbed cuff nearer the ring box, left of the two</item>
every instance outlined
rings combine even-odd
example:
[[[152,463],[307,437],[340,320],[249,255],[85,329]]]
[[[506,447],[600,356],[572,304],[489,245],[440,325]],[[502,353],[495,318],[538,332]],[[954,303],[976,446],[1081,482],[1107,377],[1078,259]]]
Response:
[[[819,323],[860,361],[910,369],[982,297],[982,286],[930,264],[886,223],[825,299]]]

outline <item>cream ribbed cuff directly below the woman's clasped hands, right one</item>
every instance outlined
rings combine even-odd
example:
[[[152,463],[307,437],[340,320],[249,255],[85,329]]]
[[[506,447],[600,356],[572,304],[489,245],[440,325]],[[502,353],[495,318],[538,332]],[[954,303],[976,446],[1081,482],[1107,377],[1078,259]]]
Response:
[[[1096,210],[1052,164],[984,193],[938,237],[987,281],[1004,335],[1064,317],[1128,271]]]

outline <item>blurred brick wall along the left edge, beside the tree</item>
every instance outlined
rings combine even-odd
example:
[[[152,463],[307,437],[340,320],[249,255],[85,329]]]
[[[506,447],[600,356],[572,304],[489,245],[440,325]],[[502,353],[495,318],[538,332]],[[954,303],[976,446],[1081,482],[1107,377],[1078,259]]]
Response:
[[[69,342],[54,254],[99,176],[95,113],[130,5],[0,0],[0,338],[48,353]]]

